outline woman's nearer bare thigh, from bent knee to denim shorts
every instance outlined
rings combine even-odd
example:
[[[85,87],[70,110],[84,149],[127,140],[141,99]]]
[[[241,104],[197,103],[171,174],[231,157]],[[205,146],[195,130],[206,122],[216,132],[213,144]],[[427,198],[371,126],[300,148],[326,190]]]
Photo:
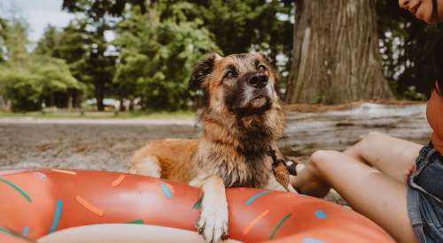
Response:
[[[416,242],[408,217],[406,185],[336,151],[317,151],[311,163],[354,210],[382,226],[397,241]]]

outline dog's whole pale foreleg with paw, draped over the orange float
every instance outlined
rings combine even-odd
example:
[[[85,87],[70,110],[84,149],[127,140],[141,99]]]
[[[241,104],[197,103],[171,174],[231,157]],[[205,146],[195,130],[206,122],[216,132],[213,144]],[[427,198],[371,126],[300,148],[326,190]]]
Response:
[[[228,239],[228,201],[225,186],[218,176],[195,178],[190,186],[201,188],[201,212],[198,217],[198,233],[207,242],[219,242]]]

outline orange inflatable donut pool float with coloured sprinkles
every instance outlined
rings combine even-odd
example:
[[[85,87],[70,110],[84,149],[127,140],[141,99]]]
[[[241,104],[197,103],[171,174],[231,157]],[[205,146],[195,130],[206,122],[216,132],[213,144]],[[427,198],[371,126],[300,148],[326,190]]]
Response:
[[[226,194],[230,239],[393,242],[366,217],[328,201],[250,188],[229,188]],[[0,242],[33,242],[90,224],[104,225],[89,233],[117,231],[112,224],[147,224],[197,234],[198,197],[196,187],[119,172],[0,171]]]

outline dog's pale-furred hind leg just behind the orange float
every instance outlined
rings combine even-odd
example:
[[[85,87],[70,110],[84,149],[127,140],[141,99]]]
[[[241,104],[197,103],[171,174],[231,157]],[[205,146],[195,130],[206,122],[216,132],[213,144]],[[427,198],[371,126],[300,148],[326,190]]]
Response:
[[[161,177],[161,167],[157,156],[144,156],[129,163],[129,173],[140,174],[153,178]]]

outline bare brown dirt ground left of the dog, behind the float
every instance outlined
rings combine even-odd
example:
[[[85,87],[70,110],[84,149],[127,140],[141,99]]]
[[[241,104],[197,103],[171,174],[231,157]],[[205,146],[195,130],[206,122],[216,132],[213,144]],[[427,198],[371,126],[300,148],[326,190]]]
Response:
[[[78,168],[126,171],[148,140],[193,138],[192,125],[0,123],[0,170]]]

